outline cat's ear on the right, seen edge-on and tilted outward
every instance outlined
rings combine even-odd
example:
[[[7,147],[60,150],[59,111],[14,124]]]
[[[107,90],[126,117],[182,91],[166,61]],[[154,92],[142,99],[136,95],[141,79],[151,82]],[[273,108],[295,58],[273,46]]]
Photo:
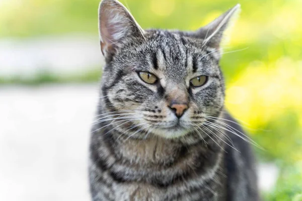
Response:
[[[204,39],[203,46],[219,49],[223,33],[230,26],[231,21],[239,14],[240,4],[237,4],[234,8],[225,12],[208,25],[200,28],[195,34],[198,38]]]

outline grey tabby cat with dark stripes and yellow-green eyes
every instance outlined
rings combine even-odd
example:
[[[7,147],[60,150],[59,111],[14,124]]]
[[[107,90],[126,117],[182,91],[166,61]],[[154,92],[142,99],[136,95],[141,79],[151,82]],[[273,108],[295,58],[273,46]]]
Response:
[[[239,10],[195,32],[143,30],[118,1],[100,3],[93,201],[259,200],[253,141],[224,109],[219,66]]]

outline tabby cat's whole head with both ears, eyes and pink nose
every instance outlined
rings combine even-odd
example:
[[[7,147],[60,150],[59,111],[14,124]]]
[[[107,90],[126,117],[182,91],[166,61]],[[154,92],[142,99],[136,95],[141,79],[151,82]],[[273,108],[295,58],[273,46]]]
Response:
[[[100,107],[121,114],[121,123],[165,138],[198,132],[206,117],[223,110],[220,42],[239,9],[195,32],[144,31],[119,2],[103,0],[99,31],[106,65]]]

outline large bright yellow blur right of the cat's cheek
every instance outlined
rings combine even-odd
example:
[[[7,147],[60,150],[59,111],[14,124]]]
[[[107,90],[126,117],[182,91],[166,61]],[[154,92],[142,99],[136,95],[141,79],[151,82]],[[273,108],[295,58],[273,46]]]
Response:
[[[292,108],[302,119],[301,61],[288,57],[274,63],[251,62],[226,90],[226,106],[257,127]]]

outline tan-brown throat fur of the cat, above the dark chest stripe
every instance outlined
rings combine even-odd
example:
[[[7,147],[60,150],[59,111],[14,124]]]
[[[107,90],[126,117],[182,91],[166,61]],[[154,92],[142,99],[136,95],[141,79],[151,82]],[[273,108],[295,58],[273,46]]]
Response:
[[[117,139],[113,133],[112,137]],[[181,141],[153,136],[147,139],[126,138],[115,140],[115,156],[131,166],[166,168],[179,164],[180,166],[194,164],[196,158],[202,155],[216,155],[221,150],[216,144],[198,143],[188,145]],[[209,153],[210,152],[210,153]],[[213,156],[215,158],[215,156]]]

